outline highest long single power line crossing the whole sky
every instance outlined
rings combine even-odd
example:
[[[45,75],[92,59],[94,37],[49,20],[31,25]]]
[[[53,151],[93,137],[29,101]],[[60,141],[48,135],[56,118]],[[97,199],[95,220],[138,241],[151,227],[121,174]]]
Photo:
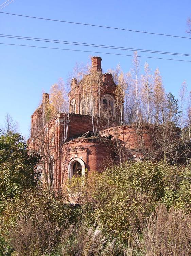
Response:
[[[170,35],[170,34],[162,34],[162,33],[152,33],[152,32],[146,32],[146,31],[131,30],[131,29],[125,29],[125,28],[116,28],[116,27],[107,27],[107,26],[94,25],[94,24],[88,24],[88,23],[80,23],[80,22],[69,22],[69,21],[66,21],[66,20],[48,19],[48,18],[41,18],[41,17],[35,17],[35,16],[27,16],[27,15],[21,15],[21,14],[15,14],[15,13],[7,13],[7,12],[0,12],[0,13],[8,14],[8,15],[14,15],[14,16],[20,16],[20,17],[26,17],[26,18],[50,20],[50,21],[54,21],[54,22],[64,22],[64,23],[77,24],[77,25],[85,25],[85,26],[91,26],[91,27],[110,28],[110,29],[138,32],[138,33],[145,33],[145,34],[164,35],[166,37],[176,37],[176,38],[191,39],[190,37],[180,37],[178,35]]]

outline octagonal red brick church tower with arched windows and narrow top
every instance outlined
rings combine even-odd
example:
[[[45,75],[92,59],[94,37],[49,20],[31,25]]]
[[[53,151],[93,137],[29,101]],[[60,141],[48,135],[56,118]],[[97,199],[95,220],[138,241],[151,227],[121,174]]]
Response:
[[[91,58],[90,73],[81,81],[74,77],[69,93],[70,113],[117,118],[117,85],[112,74],[102,73],[100,57]]]

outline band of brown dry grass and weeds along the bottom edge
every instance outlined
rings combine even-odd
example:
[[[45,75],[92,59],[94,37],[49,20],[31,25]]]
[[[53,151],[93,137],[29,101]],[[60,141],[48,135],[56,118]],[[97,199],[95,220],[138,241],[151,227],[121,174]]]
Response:
[[[128,242],[105,235],[101,227],[72,224],[56,227],[36,213],[11,230],[10,238],[17,256],[190,256],[191,216],[181,210],[167,211],[159,205],[143,227]],[[133,238],[132,238],[133,237]]]

